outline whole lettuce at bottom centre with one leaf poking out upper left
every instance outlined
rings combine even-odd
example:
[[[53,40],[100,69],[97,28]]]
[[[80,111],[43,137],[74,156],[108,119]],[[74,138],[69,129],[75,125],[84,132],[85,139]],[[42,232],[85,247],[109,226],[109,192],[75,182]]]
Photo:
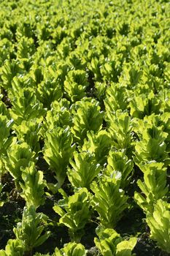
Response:
[[[59,223],[69,227],[71,241],[80,242],[85,224],[90,218],[90,203],[88,189],[82,188],[72,196],[67,196],[63,189],[59,189],[63,200],[53,207],[61,216]]]

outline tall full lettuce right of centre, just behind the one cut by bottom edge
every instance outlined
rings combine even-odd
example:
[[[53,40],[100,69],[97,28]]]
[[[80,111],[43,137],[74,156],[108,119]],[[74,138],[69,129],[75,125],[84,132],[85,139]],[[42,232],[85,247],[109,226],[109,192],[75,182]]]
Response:
[[[114,228],[128,207],[128,197],[123,189],[120,189],[119,178],[101,177],[98,183],[93,181],[90,186],[94,193],[90,203],[98,212],[98,219],[104,227]]]

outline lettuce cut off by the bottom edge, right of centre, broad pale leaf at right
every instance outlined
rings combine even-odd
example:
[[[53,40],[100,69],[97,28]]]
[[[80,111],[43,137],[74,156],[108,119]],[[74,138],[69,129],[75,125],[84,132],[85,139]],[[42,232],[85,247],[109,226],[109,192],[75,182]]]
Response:
[[[98,227],[96,229],[98,238],[94,238],[94,242],[103,256],[133,256],[132,253],[136,245],[137,238],[123,240],[120,234],[114,229],[104,229]]]

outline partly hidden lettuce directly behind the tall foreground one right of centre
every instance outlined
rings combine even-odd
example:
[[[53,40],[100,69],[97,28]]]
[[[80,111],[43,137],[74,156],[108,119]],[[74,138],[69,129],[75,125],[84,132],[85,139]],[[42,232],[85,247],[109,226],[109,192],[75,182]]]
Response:
[[[133,174],[133,161],[126,157],[123,151],[109,151],[109,157],[107,158],[107,170],[108,176],[120,175],[120,187],[124,189],[128,187]]]

